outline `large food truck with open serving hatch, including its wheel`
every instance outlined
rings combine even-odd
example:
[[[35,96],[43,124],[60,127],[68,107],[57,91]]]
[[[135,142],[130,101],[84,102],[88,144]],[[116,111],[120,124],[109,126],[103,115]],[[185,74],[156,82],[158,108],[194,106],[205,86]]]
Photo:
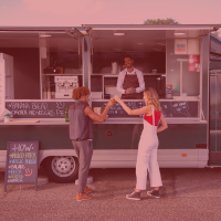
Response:
[[[39,140],[39,167],[56,182],[77,178],[67,107],[78,86],[105,107],[130,55],[145,86],[157,90],[168,129],[159,133],[160,168],[221,165],[221,24],[0,27],[0,168],[7,141]],[[125,99],[130,108],[143,99]],[[13,117],[6,120],[9,110]],[[6,122],[6,123],[4,123]],[[93,124],[91,168],[135,168],[143,116],[119,104]],[[147,135],[148,136],[148,135]]]

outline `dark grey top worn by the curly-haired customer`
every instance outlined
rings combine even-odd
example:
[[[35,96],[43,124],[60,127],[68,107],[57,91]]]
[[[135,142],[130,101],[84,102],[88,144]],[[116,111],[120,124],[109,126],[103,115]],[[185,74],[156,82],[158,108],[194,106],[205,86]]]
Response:
[[[92,119],[84,114],[87,106],[88,104],[76,99],[69,108],[70,139],[72,140],[93,139]]]

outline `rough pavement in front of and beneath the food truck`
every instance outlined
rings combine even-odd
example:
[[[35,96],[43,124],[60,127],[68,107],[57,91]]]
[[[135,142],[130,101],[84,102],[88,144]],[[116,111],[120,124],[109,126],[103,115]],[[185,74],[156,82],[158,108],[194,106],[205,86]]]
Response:
[[[0,170],[0,221],[220,221],[221,168],[160,169],[160,199],[141,192],[140,201],[125,198],[135,188],[135,169],[91,169],[93,199],[77,202],[74,183],[8,186]],[[147,181],[147,190],[150,190]]]

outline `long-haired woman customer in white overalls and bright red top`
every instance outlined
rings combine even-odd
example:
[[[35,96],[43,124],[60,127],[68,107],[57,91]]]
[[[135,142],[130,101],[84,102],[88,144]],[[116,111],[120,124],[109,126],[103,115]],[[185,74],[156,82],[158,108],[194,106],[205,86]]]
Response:
[[[137,164],[136,164],[136,189],[126,198],[129,200],[140,200],[140,191],[146,190],[147,169],[149,171],[150,187],[154,189],[147,191],[147,194],[160,198],[159,187],[162,186],[159,166],[157,162],[158,137],[157,133],[165,130],[167,122],[161,114],[158,94],[155,88],[149,87],[144,91],[144,101],[146,106],[139,109],[130,109],[118,96],[114,97],[128,115],[144,114],[144,129],[140,136]],[[159,122],[161,126],[158,127]]]

